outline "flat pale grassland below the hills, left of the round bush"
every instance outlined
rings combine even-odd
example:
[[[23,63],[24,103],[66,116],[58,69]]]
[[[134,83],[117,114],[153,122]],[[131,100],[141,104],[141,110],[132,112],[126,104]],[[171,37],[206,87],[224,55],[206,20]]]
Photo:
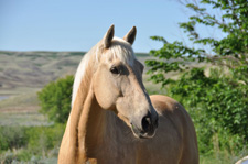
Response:
[[[1,100],[0,125],[48,125],[47,118],[39,112],[37,90],[36,88],[30,89],[25,94]]]

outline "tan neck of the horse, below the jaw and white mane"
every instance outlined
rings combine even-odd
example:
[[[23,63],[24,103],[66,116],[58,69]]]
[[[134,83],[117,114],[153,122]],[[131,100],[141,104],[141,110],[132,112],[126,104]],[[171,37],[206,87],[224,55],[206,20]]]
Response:
[[[86,88],[82,88],[86,87]],[[84,163],[103,140],[105,110],[82,81],[62,140],[58,163]]]

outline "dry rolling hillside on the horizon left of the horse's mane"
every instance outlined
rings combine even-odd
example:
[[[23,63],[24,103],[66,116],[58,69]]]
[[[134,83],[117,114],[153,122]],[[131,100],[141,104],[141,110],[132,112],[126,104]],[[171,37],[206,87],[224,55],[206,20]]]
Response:
[[[57,77],[73,74],[84,54],[0,52],[0,95],[21,94],[26,89],[42,88]]]

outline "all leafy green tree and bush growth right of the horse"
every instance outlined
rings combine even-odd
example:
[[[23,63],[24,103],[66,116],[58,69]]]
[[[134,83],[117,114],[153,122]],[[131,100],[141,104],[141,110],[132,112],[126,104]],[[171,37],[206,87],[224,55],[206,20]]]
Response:
[[[148,73],[151,80],[168,87],[169,94],[188,109],[202,153],[209,153],[215,146],[238,152],[248,145],[248,1],[201,0],[185,6],[194,14],[180,28],[194,47],[151,36],[163,46],[150,52],[155,58],[145,62]],[[223,15],[213,14],[214,10]],[[225,36],[204,36],[197,32],[203,26],[218,29]],[[211,52],[202,47],[211,47]],[[196,63],[209,63],[213,68],[206,75]],[[176,80],[166,78],[170,72],[182,76]],[[213,142],[215,138],[217,144]]]

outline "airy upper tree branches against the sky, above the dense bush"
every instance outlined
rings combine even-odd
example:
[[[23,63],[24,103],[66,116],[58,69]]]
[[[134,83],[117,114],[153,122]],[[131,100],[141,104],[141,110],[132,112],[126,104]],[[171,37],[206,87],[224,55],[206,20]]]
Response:
[[[213,10],[220,10],[224,14],[218,18],[207,12],[204,4],[211,6]],[[191,62],[211,62],[218,66],[226,66],[233,72],[241,69],[239,78],[247,84],[248,80],[248,2],[247,0],[202,0],[200,3],[186,3],[188,9],[194,11],[188,22],[179,23],[180,28],[187,33],[190,41],[195,47],[188,47],[183,42],[169,43],[162,36],[151,36],[154,41],[163,43],[160,50],[152,50],[150,54],[159,59],[147,61],[152,74],[151,79],[155,83],[166,85],[171,80],[164,77],[164,73],[187,70],[186,65]],[[212,11],[213,12],[213,11]],[[219,29],[225,37],[216,40],[204,37],[196,31],[197,26]],[[214,55],[206,53],[204,48],[212,48]],[[170,62],[168,62],[170,61]]]

